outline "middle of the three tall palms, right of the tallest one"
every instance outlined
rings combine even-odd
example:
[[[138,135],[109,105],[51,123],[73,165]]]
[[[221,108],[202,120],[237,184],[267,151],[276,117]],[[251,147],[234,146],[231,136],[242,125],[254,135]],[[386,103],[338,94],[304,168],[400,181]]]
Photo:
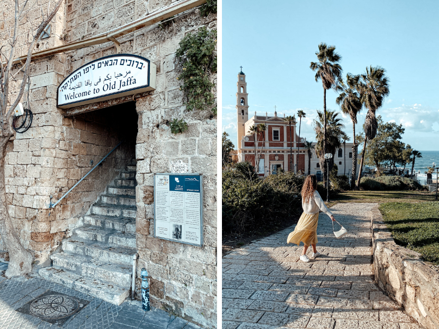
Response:
[[[350,73],[346,75],[346,85],[342,84],[342,92],[336,99],[336,103],[340,105],[341,111],[350,116],[352,120],[352,130],[354,143],[352,145],[352,177],[351,189],[355,186],[355,175],[357,174],[357,154],[358,143],[355,135],[355,125],[357,124],[357,115],[361,111],[363,104],[361,103],[361,95],[358,92],[358,83],[360,76],[353,76]],[[346,162],[345,162],[346,166]],[[346,171],[346,170],[345,170]]]

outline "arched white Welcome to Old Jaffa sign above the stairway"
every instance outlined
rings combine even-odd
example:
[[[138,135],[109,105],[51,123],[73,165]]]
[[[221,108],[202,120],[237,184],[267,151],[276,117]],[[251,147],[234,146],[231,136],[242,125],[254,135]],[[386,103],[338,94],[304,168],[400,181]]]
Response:
[[[58,107],[67,109],[156,89],[155,64],[149,59],[116,54],[89,62],[58,87]]]

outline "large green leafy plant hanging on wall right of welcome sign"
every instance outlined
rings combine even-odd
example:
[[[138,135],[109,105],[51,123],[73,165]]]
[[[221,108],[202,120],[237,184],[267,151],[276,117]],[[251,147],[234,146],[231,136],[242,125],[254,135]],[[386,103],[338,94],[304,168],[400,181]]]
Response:
[[[188,33],[179,43],[176,58],[181,73],[177,79],[183,82],[180,90],[189,111],[212,110],[217,113],[217,108],[213,106],[214,84],[210,81],[211,74],[217,72],[216,42],[217,31],[201,27],[197,33]]]

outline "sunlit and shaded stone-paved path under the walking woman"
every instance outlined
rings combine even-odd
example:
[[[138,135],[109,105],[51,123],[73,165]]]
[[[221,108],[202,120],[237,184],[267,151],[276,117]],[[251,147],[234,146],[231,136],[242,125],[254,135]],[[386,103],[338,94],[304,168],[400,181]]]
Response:
[[[370,210],[343,203],[331,210],[348,230],[341,239],[320,213],[321,253],[299,261],[302,244],[286,244],[294,225],[222,259],[222,329],[418,329],[374,281]],[[311,256],[312,249],[308,249]]]

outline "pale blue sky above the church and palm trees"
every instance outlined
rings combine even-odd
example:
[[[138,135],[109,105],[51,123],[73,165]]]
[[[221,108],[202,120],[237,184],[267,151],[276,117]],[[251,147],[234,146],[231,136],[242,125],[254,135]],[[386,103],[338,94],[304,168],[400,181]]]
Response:
[[[246,74],[249,116],[307,114],[301,134],[323,108],[323,87],[309,68],[320,42],[336,46],[343,77],[380,65],[390,95],[378,114],[406,129],[403,141],[420,151],[439,150],[439,2],[431,1],[222,1],[222,131],[236,145],[236,82]],[[338,95],[326,94],[339,110]],[[366,110],[359,115],[362,129]],[[344,118],[352,137],[352,121]]]

